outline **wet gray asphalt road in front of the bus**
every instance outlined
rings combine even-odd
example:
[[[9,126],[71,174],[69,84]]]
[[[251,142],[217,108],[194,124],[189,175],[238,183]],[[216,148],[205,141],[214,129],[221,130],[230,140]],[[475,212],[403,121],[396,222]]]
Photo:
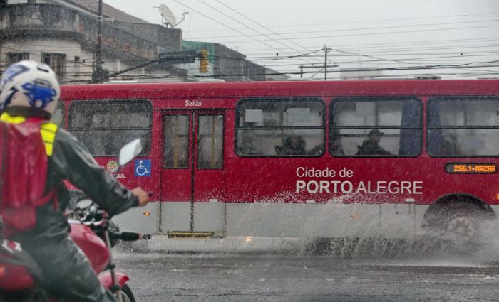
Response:
[[[137,301],[499,301],[499,254],[115,253]]]

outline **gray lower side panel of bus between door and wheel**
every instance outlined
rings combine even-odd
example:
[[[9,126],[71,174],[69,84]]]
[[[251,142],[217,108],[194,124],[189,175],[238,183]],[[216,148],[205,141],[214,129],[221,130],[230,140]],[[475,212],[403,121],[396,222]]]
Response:
[[[406,237],[428,205],[227,203],[227,236]]]

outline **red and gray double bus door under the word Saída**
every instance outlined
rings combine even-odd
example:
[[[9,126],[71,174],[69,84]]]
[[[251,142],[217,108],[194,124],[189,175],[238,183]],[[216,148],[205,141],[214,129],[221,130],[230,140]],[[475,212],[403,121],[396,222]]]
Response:
[[[224,120],[221,111],[164,112],[160,231],[224,231]]]

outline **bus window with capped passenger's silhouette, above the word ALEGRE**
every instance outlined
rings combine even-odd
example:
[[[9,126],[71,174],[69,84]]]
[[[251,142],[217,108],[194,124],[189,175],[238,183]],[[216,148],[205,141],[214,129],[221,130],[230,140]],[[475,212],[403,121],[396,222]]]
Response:
[[[331,103],[332,156],[418,156],[423,143],[418,99],[336,99]]]

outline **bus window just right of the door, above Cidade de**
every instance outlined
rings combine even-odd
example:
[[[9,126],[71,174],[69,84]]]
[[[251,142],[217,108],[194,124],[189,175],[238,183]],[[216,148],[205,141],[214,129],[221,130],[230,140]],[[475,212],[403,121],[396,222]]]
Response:
[[[320,99],[245,99],[237,105],[240,156],[321,156],[324,103]]]

